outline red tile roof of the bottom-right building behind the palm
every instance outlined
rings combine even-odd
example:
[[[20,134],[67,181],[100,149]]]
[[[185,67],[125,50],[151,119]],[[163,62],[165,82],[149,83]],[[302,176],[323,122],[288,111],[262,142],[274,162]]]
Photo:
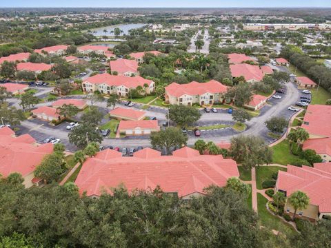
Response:
[[[288,172],[278,173],[277,189],[284,190],[287,196],[298,190],[305,192],[310,204],[319,206],[320,212],[331,212],[331,173],[323,166],[288,165]]]

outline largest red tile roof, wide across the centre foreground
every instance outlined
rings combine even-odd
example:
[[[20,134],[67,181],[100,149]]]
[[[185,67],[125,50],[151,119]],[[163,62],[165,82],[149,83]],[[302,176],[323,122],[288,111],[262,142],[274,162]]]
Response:
[[[104,158],[88,158],[75,181],[79,192],[100,196],[103,190],[125,185],[134,189],[154,189],[159,185],[164,192],[179,196],[203,194],[209,185],[226,185],[228,178],[239,176],[237,164],[221,155],[200,155],[183,147],[172,156],[161,156],[150,148],[136,152],[133,157],[121,157],[113,152]],[[106,151],[106,150],[105,150]],[[103,151],[104,152],[104,151]]]

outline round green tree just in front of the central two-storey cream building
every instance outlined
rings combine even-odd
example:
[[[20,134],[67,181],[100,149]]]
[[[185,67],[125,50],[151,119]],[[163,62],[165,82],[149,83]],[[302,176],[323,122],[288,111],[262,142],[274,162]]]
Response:
[[[188,126],[199,120],[201,113],[194,107],[185,105],[170,105],[169,118],[177,125]]]

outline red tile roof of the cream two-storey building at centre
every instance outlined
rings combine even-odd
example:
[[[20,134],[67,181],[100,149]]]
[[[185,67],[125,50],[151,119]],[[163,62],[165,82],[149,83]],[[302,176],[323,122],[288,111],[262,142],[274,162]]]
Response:
[[[165,87],[165,92],[170,96],[183,96],[188,94],[190,96],[202,95],[205,93],[225,93],[228,90],[228,87],[219,83],[216,80],[210,80],[207,83],[198,83],[192,81],[191,83],[178,84],[171,83]]]

